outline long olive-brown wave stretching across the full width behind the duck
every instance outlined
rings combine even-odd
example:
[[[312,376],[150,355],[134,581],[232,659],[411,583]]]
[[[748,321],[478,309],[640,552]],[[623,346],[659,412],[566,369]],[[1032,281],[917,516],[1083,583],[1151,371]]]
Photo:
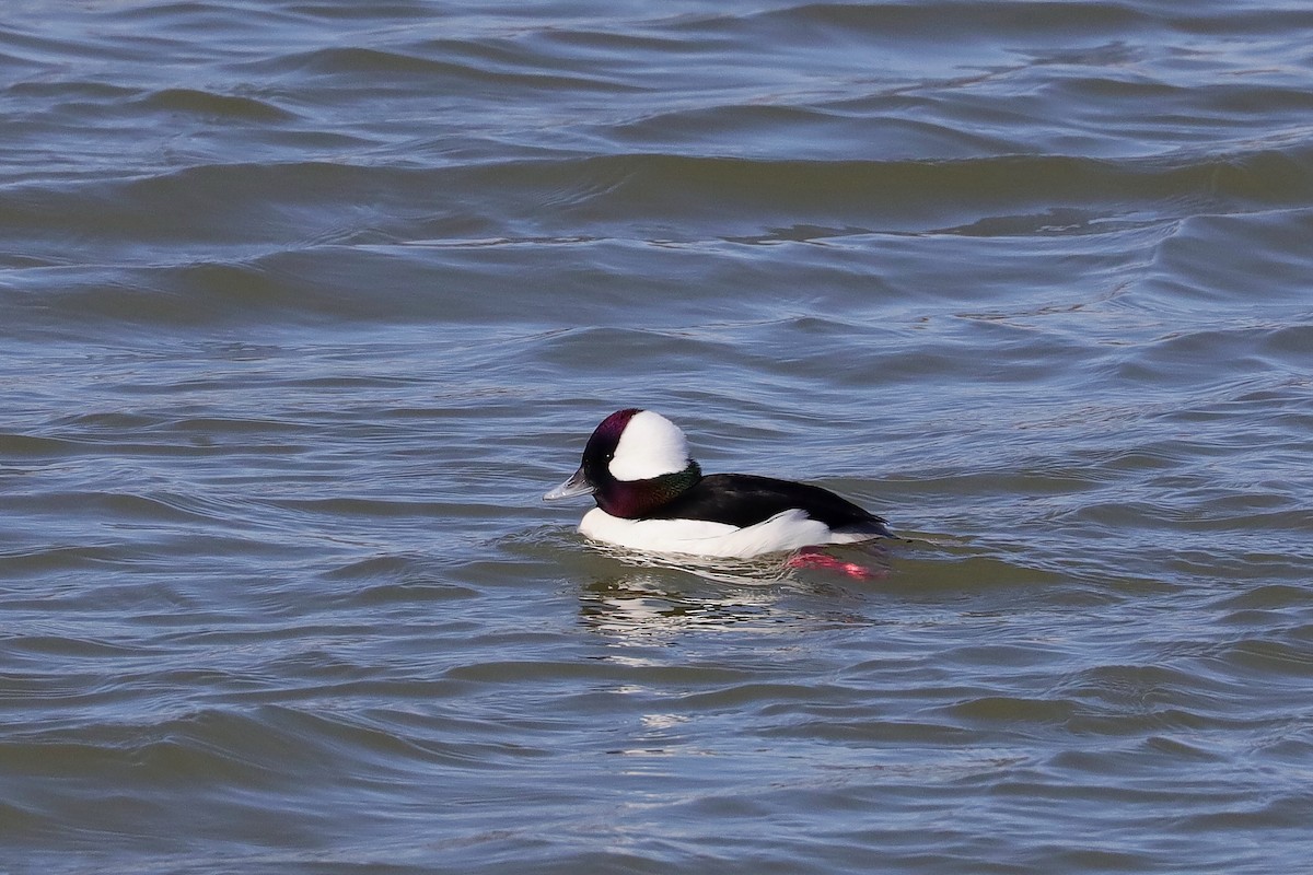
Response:
[[[871,232],[924,232],[1018,211],[1061,216],[1060,207],[1091,219],[1179,219],[1302,206],[1310,197],[1313,143],[1140,160],[622,153],[425,169],[297,161],[9,185],[0,189],[0,231],[76,234],[92,247],[118,240],[137,248],[402,243],[449,236],[441,234],[444,224],[478,239],[639,236],[634,226],[653,220],[692,235],[836,222]],[[158,261],[154,252],[150,257]]]

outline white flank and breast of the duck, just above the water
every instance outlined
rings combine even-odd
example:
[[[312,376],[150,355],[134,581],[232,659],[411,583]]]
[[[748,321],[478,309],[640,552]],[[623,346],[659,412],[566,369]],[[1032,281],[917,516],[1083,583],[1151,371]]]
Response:
[[[579,531],[593,540],[643,552],[735,559],[835,543],[830,526],[802,510],[784,510],[738,529],[702,519],[624,519],[596,508],[584,514]]]

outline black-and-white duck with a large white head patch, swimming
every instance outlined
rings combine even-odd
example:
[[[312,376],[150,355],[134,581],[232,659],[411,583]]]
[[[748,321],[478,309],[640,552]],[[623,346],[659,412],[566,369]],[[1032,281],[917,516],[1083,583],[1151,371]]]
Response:
[[[574,476],[546,493],[592,495],[579,531],[645,552],[746,559],[893,534],[885,521],[829,489],[748,474],[710,474],[660,413],[629,408],[604,418]]]

